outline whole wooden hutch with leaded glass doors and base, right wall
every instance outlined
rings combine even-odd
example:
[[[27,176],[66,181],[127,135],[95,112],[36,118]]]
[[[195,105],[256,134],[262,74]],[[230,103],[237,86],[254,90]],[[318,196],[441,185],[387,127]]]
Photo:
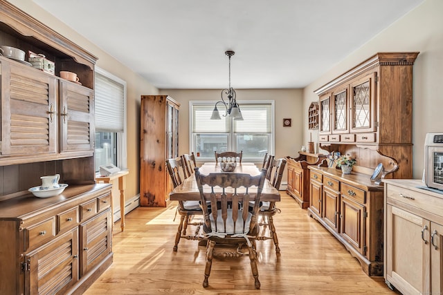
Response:
[[[370,180],[412,178],[413,64],[418,53],[377,53],[320,87],[321,149],[349,153],[352,174],[311,170],[308,213],[325,226],[370,276],[383,275],[383,185]]]

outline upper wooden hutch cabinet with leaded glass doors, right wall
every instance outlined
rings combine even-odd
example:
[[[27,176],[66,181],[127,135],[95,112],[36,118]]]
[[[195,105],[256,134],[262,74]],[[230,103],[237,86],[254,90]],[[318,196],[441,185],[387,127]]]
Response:
[[[411,178],[417,55],[377,53],[318,88],[320,147],[343,153],[354,146],[359,166],[383,162],[387,178]]]

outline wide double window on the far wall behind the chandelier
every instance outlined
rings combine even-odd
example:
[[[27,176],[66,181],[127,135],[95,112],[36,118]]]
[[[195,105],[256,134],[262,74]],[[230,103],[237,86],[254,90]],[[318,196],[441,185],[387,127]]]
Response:
[[[273,101],[239,102],[244,120],[221,116],[210,120],[215,102],[190,102],[190,151],[199,160],[214,160],[214,152],[243,151],[243,160],[263,160],[273,153]],[[224,110],[219,108],[220,115]]]

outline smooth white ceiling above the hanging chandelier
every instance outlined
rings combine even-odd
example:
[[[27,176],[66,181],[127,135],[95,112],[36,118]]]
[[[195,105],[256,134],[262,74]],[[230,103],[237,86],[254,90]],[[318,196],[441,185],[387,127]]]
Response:
[[[424,0],[34,1],[157,88],[302,88]]]

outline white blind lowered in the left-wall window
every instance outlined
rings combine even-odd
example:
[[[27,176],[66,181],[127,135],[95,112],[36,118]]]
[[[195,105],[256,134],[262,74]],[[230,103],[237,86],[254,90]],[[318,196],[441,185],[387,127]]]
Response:
[[[96,131],[125,129],[125,86],[96,72]]]

